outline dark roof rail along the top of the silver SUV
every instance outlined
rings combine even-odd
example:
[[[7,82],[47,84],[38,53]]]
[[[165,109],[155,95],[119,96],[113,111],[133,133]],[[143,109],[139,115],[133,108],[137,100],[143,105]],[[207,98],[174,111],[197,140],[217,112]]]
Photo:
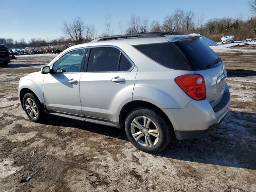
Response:
[[[126,34],[126,35],[114,35],[114,36],[104,36],[100,38],[96,38],[91,42],[97,41],[106,41],[106,40],[116,40],[116,39],[127,39],[127,38],[146,38],[146,37],[164,37],[168,35],[169,32],[148,32],[148,33],[135,33],[135,34]]]

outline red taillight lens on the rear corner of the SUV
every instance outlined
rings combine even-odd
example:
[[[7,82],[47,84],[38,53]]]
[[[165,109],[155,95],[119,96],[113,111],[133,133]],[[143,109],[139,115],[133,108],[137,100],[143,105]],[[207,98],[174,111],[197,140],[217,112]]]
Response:
[[[178,86],[192,99],[206,99],[204,77],[199,74],[186,74],[174,79]]]

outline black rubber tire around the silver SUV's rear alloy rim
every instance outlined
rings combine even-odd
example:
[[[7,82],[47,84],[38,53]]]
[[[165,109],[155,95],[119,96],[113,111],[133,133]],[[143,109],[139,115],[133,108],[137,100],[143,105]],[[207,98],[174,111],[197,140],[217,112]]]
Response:
[[[153,126],[157,127],[159,138],[158,138],[158,141],[156,142],[156,144],[154,144],[153,146],[142,146],[142,144],[137,142],[135,140],[134,136],[132,136],[132,129],[136,128],[134,126],[133,126],[134,128],[132,128],[132,122],[135,118],[140,118],[140,116],[145,116],[146,118],[149,118],[150,120],[152,120]],[[152,123],[150,125],[152,126]],[[136,128],[136,129],[139,130],[138,128]],[[139,131],[141,132],[142,130],[139,130]],[[136,148],[138,148],[139,150],[144,151],[146,153],[150,153],[150,154],[156,154],[156,153],[159,153],[162,150],[164,150],[164,148],[166,148],[166,146],[169,144],[169,142],[171,140],[171,133],[172,133],[171,127],[170,127],[170,125],[168,125],[166,120],[164,120],[164,118],[162,118],[160,115],[158,115],[154,110],[149,109],[149,108],[137,108],[137,109],[132,110],[132,112],[130,112],[128,114],[126,121],[125,121],[125,132],[126,132],[126,135],[129,139],[129,141]],[[148,136],[150,136],[151,138],[154,139],[154,137],[152,135],[148,134]],[[143,136],[141,136],[141,139],[139,139],[139,141],[143,142],[143,141],[141,141],[142,139],[145,140],[145,145],[146,145],[145,134],[144,134],[144,138],[143,138]],[[151,141],[151,143],[152,143],[152,141]]]

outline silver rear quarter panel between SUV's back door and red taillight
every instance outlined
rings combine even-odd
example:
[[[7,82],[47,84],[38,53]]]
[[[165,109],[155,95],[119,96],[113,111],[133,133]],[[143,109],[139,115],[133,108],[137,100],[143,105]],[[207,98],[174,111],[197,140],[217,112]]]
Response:
[[[167,68],[133,47],[132,54],[127,54],[138,67],[132,100],[150,102],[159,108],[183,108],[192,100],[174,78],[193,71]]]

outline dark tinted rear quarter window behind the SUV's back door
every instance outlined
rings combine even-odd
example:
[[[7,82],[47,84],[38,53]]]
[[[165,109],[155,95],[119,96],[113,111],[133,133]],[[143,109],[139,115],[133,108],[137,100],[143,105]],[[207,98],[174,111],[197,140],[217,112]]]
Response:
[[[146,56],[161,65],[177,70],[191,70],[187,62],[170,43],[144,44],[134,46]]]

